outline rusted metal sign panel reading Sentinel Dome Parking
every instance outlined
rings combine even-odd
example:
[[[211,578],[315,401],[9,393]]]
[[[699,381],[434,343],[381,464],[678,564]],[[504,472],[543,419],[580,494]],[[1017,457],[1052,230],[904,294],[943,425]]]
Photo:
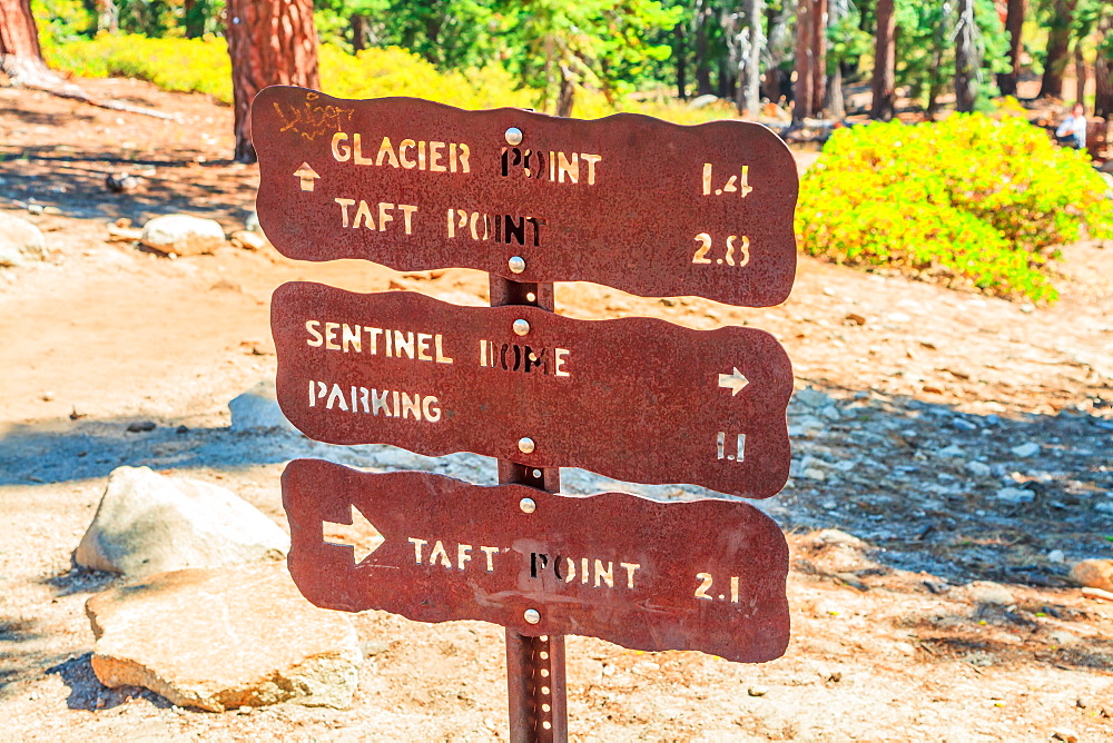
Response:
[[[282,409],[321,442],[466,450],[755,498],[788,478],[792,369],[762,330],[312,283],[275,291],[272,330]]]

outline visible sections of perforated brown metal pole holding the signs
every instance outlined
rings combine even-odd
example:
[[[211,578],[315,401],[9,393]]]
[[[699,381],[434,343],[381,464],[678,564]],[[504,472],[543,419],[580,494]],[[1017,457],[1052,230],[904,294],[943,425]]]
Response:
[[[491,276],[491,306],[555,307],[552,284],[522,284]],[[534,468],[499,460],[499,483],[560,491],[560,468]],[[511,743],[567,743],[568,703],[564,637],[531,637],[506,630],[506,692]]]

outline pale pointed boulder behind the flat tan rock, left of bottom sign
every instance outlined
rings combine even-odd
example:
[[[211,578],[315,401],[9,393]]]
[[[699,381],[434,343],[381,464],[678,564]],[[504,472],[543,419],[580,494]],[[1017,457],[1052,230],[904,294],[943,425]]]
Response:
[[[289,536],[226,488],[118,467],[73,557],[85,567],[141,577],[280,559],[288,551]]]

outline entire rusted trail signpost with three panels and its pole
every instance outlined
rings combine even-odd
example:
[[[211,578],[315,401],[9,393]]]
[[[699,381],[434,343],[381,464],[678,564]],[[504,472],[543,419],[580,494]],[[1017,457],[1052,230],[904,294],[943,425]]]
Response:
[[[751,498],[784,486],[792,369],[772,336],[561,317],[551,284],[784,301],[798,182],[775,135],[285,87],[258,95],[253,128],[259,221],[283,254],[485,270],[501,305],[275,291],[278,402],[304,434],[499,459],[494,487],[290,463],[288,562],[307,598],[506,627],[515,741],[567,740],[564,634],[785,652],[788,548],[759,511],[552,492],[563,466]]]

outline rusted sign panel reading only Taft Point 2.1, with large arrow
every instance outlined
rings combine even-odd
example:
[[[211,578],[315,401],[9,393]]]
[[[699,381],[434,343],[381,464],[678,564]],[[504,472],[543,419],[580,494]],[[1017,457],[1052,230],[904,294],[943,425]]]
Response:
[[[788,545],[745,503],[567,496],[318,459],[289,463],[282,485],[290,574],[317,606],[746,663],[788,644]],[[328,523],[361,518],[377,545],[326,541]]]

